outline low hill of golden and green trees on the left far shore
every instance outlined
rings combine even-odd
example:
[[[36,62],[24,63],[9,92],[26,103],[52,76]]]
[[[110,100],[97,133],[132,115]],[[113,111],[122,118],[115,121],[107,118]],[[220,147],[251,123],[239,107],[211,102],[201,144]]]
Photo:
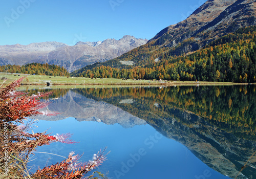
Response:
[[[3,65],[0,66],[0,72],[6,73],[23,73],[23,74],[35,74],[35,75],[50,75],[50,76],[69,76],[69,72],[55,64],[40,64],[30,63],[26,65]]]

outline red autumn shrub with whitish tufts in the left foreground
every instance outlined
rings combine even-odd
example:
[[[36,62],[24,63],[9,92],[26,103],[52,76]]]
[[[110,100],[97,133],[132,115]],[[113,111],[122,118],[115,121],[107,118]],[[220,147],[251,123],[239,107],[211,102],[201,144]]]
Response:
[[[38,169],[35,173],[29,172],[27,164],[30,155],[38,146],[53,142],[67,144],[76,142],[70,139],[70,133],[51,136],[46,132],[34,133],[30,130],[34,122],[28,118],[36,115],[56,115],[56,113],[51,114],[42,110],[48,102],[40,99],[50,93],[28,96],[26,93],[15,91],[23,79],[0,87],[0,178],[83,178],[84,174],[101,165],[106,160],[105,149],[94,154],[89,162],[78,161],[81,155],[70,152],[69,156],[60,163]]]

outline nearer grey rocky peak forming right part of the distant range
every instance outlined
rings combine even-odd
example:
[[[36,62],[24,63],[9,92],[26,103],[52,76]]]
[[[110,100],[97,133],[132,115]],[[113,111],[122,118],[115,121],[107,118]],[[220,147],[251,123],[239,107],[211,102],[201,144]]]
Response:
[[[116,58],[146,42],[146,39],[136,39],[134,36],[126,35],[119,40],[106,39],[98,44],[97,42],[78,43],[75,46],[56,49],[33,62],[57,64],[73,72],[89,64]]]

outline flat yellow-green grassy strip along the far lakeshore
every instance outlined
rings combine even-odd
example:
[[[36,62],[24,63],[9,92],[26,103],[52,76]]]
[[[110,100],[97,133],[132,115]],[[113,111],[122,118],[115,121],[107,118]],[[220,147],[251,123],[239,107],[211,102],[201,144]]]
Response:
[[[26,76],[22,81],[23,85],[43,85],[47,83],[53,86],[176,86],[176,85],[247,85],[248,83],[232,83],[232,82],[208,82],[208,81],[159,81],[159,80],[138,80],[138,79],[109,79],[109,78],[84,78],[84,77],[54,77],[43,75],[22,75],[17,74],[0,74],[0,82],[3,83],[4,78],[8,80],[5,83]]]

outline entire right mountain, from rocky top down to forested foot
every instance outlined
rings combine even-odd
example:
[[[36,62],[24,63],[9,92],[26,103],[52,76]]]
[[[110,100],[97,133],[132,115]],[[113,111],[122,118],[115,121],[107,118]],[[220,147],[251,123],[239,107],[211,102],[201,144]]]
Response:
[[[238,41],[231,36],[234,32],[247,34],[249,32],[246,30],[239,32],[238,29],[254,25],[255,1],[209,0],[187,19],[163,29],[143,46],[107,62],[86,66],[73,75],[98,77],[97,71],[104,71],[102,66],[105,69],[109,66],[112,69],[108,71],[113,72],[113,77],[120,78],[253,82],[253,75],[249,77],[250,80],[247,79],[249,74],[253,74],[251,69],[255,69],[255,36],[250,36],[251,45],[243,46],[242,53],[233,49],[240,46],[242,41],[243,44],[248,41],[243,35]],[[229,36],[230,39],[220,40],[224,36]],[[218,44],[213,41],[218,41]],[[220,44],[229,47],[228,43],[232,43],[233,47],[225,48],[224,51],[216,47]],[[207,54],[202,56],[205,51],[199,51],[200,49],[207,51]],[[247,49],[252,51],[248,52]],[[216,50],[215,54],[211,53],[213,50]],[[196,51],[199,53],[197,56],[189,56]],[[242,61],[243,55],[248,61],[246,65]],[[187,56],[191,58],[188,59]],[[228,69],[230,66],[231,70]],[[233,74],[237,74],[236,77],[228,77]]]

